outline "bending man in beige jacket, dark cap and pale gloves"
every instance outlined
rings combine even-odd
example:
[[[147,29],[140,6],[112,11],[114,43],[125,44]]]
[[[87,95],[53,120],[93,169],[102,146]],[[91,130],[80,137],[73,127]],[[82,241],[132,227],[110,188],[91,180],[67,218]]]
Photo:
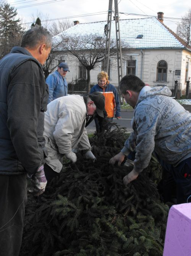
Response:
[[[86,117],[93,116],[95,111],[104,116],[105,98],[101,93],[86,96],[68,95],[55,99],[47,106],[44,119],[44,137],[48,157],[44,171],[49,183],[62,169],[62,157],[75,163],[78,148],[86,159],[95,161],[85,128]]]

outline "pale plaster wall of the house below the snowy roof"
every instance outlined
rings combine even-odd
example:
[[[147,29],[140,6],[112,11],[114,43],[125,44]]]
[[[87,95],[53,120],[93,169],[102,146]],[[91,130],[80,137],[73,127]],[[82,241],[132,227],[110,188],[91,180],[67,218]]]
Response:
[[[136,76],[141,78],[144,83],[151,86],[165,85],[170,89],[174,88],[174,80],[178,80],[181,83],[182,95],[186,91],[186,61],[189,61],[188,77],[191,77],[191,53],[185,50],[165,50],[165,49],[151,49],[151,50],[134,50],[131,52],[123,53],[123,75],[126,74],[127,59],[136,59]],[[68,63],[70,72],[68,72],[66,78],[68,83],[75,82],[79,79],[79,61],[76,57],[71,55],[64,56],[65,61]],[[157,63],[160,60],[167,62],[167,81],[157,81]],[[176,70],[180,70],[180,75],[175,74]],[[101,63],[91,70],[91,84],[97,83],[97,74],[101,71]],[[114,86],[118,86],[118,71],[117,71],[117,59],[111,59],[111,71],[110,71],[110,83]]]

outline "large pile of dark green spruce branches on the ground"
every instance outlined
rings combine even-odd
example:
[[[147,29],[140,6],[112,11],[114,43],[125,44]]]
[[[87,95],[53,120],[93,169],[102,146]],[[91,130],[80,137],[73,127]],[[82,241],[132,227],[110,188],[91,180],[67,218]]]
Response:
[[[22,255],[158,256],[163,253],[168,206],[160,201],[161,169],[149,166],[128,186],[125,166],[109,159],[127,138],[115,129],[91,138],[97,161],[78,155],[36,200],[28,195]]]

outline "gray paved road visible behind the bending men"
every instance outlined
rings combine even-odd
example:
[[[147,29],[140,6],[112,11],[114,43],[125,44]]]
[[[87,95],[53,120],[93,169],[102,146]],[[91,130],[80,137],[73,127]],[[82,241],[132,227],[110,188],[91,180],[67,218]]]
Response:
[[[131,120],[133,117],[133,111],[121,111],[121,119],[113,118],[113,122],[117,123],[120,127],[126,127],[127,131],[131,132]],[[115,128],[115,126],[114,126]],[[114,129],[113,128],[113,129]],[[94,120],[86,127],[88,133],[95,132],[95,122]]]

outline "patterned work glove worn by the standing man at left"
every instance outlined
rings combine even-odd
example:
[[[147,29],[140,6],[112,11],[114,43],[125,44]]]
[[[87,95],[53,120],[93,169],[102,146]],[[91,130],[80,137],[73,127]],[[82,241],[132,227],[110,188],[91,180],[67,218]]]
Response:
[[[44,174],[44,166],[41,165],[35,174],[27,174],[29,186],[27,190],[33,193],[36,197],[44,193],[47,185],[47,179]]]

